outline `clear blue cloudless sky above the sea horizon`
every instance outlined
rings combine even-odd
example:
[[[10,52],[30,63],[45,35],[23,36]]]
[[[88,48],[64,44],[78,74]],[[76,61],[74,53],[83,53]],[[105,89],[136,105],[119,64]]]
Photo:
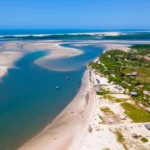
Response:
[[[0,0],[0,29],[150,29],[150,0]]]

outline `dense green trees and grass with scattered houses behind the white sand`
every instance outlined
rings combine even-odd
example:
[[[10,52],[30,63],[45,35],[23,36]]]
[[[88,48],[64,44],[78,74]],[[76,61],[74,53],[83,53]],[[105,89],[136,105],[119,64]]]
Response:
[[[106,51],[99,58],[101,64],[90,62],[89,66],[106,76],[109,82],[127,89],[128,94],[136,92],[134,99],[149,106],[150,95],[144,95],[143,91],[150,91],[150,45],[133,45],[130,48],[128,52]],[[143,87],[139,88],[139,85]]]

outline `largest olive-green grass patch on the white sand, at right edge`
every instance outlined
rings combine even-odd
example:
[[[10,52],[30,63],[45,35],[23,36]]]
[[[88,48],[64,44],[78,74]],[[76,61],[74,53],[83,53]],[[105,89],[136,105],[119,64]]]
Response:
[[[121,106],[126,110],[126,114],[134,121],[134,122],[149,122],[150,121],[150,113],[146,110],[137,108],[136,106],[124,102]]]

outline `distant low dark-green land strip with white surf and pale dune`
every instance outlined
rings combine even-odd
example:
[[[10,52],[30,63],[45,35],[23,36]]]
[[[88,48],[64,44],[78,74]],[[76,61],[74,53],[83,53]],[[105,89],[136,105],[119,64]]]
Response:
[[[1,35],[0,40],[150,39],[150,31]]]

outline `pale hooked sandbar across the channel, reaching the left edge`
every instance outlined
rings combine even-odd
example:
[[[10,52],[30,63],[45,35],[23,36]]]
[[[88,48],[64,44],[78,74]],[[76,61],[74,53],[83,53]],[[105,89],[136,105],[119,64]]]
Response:
[[[37,59],[35,63],[42,67],[42,61],[73,57],[82,54],[83,52],[74,48],[66,48],[61,46],[64,42],[60,41],[32,41],[32,42],[1,42],[0,45],[0,78],[7,74],[8,69],[15,67],[14,63],[24,55],[47,50],[47,56]]]

